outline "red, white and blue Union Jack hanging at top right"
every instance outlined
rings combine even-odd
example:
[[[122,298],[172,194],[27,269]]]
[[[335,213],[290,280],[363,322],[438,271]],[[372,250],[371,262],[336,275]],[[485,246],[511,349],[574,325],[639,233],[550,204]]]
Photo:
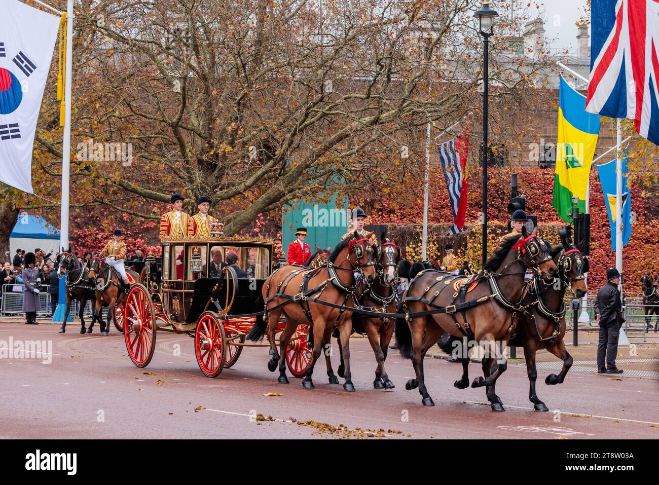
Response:
[[[592,0],[586,111],[629,118],[659,145],[659,0]]]

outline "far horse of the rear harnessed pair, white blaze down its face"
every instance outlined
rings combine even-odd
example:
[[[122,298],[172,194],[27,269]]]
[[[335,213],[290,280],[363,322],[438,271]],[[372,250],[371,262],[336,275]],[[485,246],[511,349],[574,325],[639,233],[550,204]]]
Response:
[[[396,312],[396,270],[401,261],[399,242],[399,237],[390,239],[386,235],[382,235],[380,246],[374,248],[377,277],[373,285],[362,294],[360,299],[360,305],[365,310],[384,313]],[[391,343],[391,337],[393,336],[393,323],[394,320],[388,318],[353,313],[353,331],[362,335],[366,334],[368,343],[370,343],[378,362],[375,370],[375,380],[373,381],[373,387],[376,389],[393,389],[396,387],[389,380],[389,376],[387,376],[384,369],[384,361],[387,359],[389,343]],[[341,364],[339,364],[337,372],[339,377],[343,377],[344,364],[341,341],[339,341],[339,356],[341,357]],[[329,359],[328,365],[328,370],[331,370]]]

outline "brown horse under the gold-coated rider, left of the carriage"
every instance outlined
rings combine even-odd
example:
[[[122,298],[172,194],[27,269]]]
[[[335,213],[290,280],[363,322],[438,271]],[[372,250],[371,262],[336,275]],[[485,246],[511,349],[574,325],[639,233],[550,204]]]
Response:
[[[132,270],[126,270],[129,277],[130,285],[139,283],[140,275]],[[101,329],[101,335],[107,335],[110,331],[110,320],[113,320],[115,328],[123,332],[123,299],[125,297],[124,291],[121,289],[123,281],[109,266],[96,255],[92,256],[90,262],[90,279],[96,281],[96,311],[101,314],[103,304],[107,305],[107,326],[105,331]],[[118,312],[115,309],[119,310]],[[119,315],[117,315],[119,313]]]

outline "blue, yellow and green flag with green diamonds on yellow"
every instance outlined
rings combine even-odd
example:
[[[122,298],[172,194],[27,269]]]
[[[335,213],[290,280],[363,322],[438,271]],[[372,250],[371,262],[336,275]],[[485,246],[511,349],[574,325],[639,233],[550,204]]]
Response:
[[[552,205],[563,221],[571,223],[573,197],[579,197],[579,212],[586,212],[588,175],[600,132],[600,117],[586,112],[586,97],[573,90],[562,76],[558,97]]]

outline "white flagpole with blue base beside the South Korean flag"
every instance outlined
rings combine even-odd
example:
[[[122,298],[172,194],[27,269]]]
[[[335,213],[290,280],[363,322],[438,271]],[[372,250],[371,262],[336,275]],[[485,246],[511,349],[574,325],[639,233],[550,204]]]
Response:
[[[71,171],[71,84],[73,52],[73,0],[67,0],[67,46],[65,59],[64,84],[64,132],[62,144],[62,203],[59,222],[59,244],[69,248],[69,175]],[[59,280],[59,300],[53,314],[53,322],[70,320],[66,312],[66,286],[64,279]]]

